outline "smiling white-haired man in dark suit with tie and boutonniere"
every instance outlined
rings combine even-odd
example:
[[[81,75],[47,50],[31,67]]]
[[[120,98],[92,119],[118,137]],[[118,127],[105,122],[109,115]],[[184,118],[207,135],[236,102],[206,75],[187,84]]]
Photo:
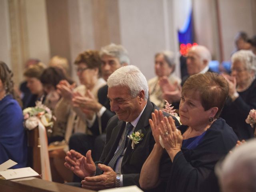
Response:
[[[136,66],[121,67],[110,75],[108,98],[116,115],[108,121],[100,161],[94,164],[90,150],[86,156],[70,150],[65,158],[65,166],[84,179],[83,188],[139,186],[140,170],[155,144],[148,119],[158,108],[148,100],[146,78]]]

